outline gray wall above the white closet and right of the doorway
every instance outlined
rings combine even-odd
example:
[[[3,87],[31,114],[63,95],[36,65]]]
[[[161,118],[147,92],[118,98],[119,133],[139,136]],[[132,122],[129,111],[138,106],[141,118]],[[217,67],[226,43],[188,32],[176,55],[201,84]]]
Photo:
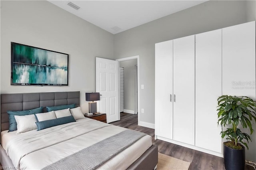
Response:
[[[140,121],[154,124],[154,45],[158,42],[225,28],[256,18],[255,1],[207,1],[192,8],[154,20],[114,35],[114,57],[140,56]],[[140,85],[139,85],[140,86]],[[140,111],[139,111],[140,112]],[[217,126],[217,124],[216,124]],[[246,158],[256,161],[253,142]]]

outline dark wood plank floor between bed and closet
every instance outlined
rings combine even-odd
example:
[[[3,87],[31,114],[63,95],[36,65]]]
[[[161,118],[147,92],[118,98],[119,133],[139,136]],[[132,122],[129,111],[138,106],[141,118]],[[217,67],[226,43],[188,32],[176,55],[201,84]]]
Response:
[[[158,152],[178,158],[187,162],[191,162],[189,170],[224,170],[223,158],[199,152],[190,148],[165,142],[162,140],[154,140],[155,130],[138,126],[137,115],[128,113],[120,114],[120,121],[110,123],[120,127],[138,130],[152,136],[152,143],[158,146]]]

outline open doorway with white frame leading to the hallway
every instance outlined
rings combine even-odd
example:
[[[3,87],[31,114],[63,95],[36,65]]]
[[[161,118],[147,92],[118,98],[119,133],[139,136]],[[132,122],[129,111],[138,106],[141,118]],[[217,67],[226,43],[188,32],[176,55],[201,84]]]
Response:
[[[140,112],[139,112],[140,111],[139,109],[140,108],[140,89],[138,88],[138,85],[140,84],[139,83],[140,81],[139,56],[137,55],[132,57],[116,59],[116,61],[119,61],[119,67],[124,67],[124,91],[126,91],[126,93],[124,94],[124,112],[132,113],[132,114],[138,113],[138,123],[139,123],[140,122],[139,121],[140,120]],[[126,71],[128,71],[129,73],[127,73]],[[120,96],[120,100],[122,100],[121,96]]]

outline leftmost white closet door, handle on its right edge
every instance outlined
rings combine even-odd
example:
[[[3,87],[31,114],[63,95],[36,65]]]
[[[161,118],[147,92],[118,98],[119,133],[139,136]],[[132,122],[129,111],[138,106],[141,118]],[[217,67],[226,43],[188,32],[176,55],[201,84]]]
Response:
[[[155,50],[155,135],[172,139],[172,40]]]

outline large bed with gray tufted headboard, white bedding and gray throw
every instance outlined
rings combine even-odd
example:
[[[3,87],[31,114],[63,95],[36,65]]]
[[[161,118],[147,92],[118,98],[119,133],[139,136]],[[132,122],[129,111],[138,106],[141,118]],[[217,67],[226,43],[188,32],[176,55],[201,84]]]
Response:
[[[152,145],[151,136],[138,134],[142,136],[134,139],[133,143],[122,146],[125,143],[124,137],[127,136],[127,140],[135,138],[136,131],[89,118],[20,134],[16,134],[16,131],[8,132],[7,111],[43,107],[43,112],[46,113],[46,106],[70,104],[80,106],[79,91],[1,94],[2,166],[18,169],[156,168],[158,148]],[[124,140],[118,142],[120,138]],[[117,145],[123,147],[120,152],[115,148]],[[114,156],[109,158],[110,155]]]

